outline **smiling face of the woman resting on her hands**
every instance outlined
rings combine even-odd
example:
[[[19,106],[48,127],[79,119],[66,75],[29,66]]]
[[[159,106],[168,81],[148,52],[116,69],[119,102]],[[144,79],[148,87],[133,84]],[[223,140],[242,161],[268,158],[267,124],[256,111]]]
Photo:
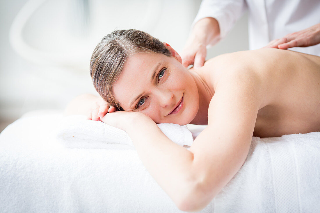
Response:
[[[113,87],[125,111],[141,112],[156,123],[185,125],[194,119],[199,109],[195,80],[178,53],[172,55],[141,52],[127,59]]]

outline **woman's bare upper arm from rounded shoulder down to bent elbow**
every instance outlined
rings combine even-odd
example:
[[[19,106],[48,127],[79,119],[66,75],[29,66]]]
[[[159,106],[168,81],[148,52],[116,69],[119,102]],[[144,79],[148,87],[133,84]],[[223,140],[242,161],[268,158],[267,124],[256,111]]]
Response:
[[[236,71],[220,79],[209,105],[208,126],[190,147],[199,191],[181,203],[184,210],[198,211],[208,205],[248,155],[265,93],[261,77],[239,65],[229,64]]]

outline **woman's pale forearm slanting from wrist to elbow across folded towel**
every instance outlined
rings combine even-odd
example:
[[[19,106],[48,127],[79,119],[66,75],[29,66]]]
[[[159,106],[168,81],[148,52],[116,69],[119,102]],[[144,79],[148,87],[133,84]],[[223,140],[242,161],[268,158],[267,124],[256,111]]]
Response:
[[[151,176],[179,205],[193,189],[193,153],[172,142],[155,122],[136,122],[126,130]]]

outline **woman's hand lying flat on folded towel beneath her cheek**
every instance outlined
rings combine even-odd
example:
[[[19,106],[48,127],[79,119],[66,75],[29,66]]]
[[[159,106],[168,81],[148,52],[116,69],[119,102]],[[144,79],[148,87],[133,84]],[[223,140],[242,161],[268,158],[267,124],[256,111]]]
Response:
[[[125,111],[107,113],[103,117],[100,117],[100,121],[124,131],[127,131],[128,128],[139,128],[139,125],[137,124],[140,122],[154,123],[154,121],[148,115],[140,112]]]

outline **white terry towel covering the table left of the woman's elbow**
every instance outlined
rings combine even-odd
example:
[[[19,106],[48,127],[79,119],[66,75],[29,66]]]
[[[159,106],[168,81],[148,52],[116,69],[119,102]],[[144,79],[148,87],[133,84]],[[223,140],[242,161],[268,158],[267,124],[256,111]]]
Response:
[[[28,113],[0,134],[0,212],[183,212],[136,150],[67,148],[56,138],[61,119]]]

